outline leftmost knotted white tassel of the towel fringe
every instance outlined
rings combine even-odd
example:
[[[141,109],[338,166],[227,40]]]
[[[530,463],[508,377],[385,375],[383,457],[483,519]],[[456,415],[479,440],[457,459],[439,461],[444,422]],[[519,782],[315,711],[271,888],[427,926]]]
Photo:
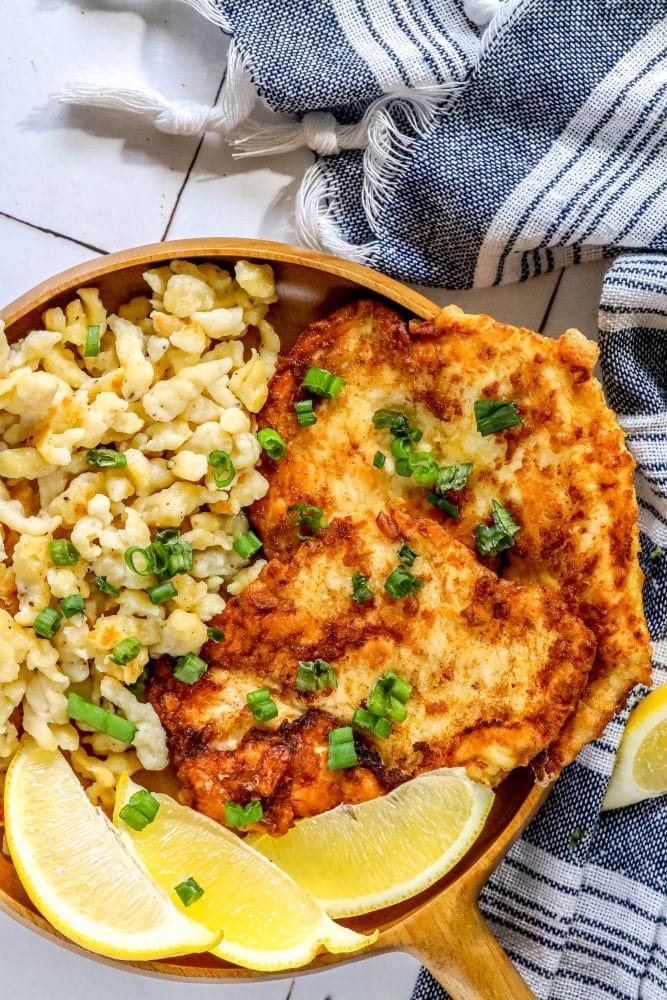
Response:
[[[206,0],[182,0],[191,6]],[[215,107],[195,101],[169,101],[150,88],[103,87],[80,81],[58,94],[64,104],[86,104],[113,111],[130,111],[151,122],[168,135],[202,135],[220,132],[226,135],[251,113],[257,91],[248,67],[232,41],[227,73]]]

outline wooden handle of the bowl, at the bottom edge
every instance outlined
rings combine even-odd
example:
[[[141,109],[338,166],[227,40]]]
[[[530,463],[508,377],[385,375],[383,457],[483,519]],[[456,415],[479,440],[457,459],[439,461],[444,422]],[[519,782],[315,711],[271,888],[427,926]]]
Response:
[[[383,935],[418,958],[452,1000],[536,1000],[468,892],[435,898]]]

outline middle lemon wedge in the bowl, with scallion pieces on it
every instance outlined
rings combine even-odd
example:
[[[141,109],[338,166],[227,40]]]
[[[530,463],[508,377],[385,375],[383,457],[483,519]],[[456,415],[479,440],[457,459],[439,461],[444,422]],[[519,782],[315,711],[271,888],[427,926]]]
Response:
[[[183,913],[209,931],[221,929],[214,955],[265,972],[307,965],[325,947],[359,951],[366,936],[335,924],[288,875],[207,816],[155,795],[158,813],[143,830],[126,826],[120,810],[140,787],[123,775],[116,791],[114,822],[123,841]],[[194,878],[203,896],[186,908],[174,892]]]

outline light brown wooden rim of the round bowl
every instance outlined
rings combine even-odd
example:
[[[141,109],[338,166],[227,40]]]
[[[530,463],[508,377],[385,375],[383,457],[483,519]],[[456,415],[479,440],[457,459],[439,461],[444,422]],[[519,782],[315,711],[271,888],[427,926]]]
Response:
[[[402,307],[421,318],[436,316],[440,307],[431,302],[420,292],[409,288],[393,278],[388,278],[369,267],[355,262],[342,260],[313,250],[290,246],[286,243],[266,240],[236,239],[236,238],[202,238],[170,240],[164,243],[150,243],[145,246],[121,250],[102,257],[94,257],[74,267],[40,282],[27,292],[14,299],[0,309],[0,319],[7,327],[20,321],[28,313],[45,308],[56,296],[89,284],[107,274],[134,268],[138,265],[154,266],[158,263],[177,258],[251,258],[266,262],[283,262],[324,271],[336,277],[343,278],[373,294],[380,295],[390,302]],[[455,877],[441,890],[431,891],[423,904],[404,918],[398,918],[386,925],[378,941],[368,949],[354,955],[318,955],[314,961],[301,969],[287,969],[284,972],[263,973],[241,967],[220,964],[220,967],[196,965],[179,965],[173,959],[158,962],[122,962],[97,955],[81,948],[49,924],[41,914],[33,913],[18,900],[13,899],[0,888],[0,911],[16,920],[24,927],[35,931],[52,943],[81,955],[93,962],[154,978],[170,979],[178,977],[181,982],[208,983],[238,983],[240,979],[253,981],[270,981],[293,978],[297,975],[307,975],[333,965],[348,964],[360,961],[371,955],[393,950],[397,947],[396,938],[403,923],[407,923],[430,902],[446,896],[458,883],[466,881],[470,884],[471,899],[474,902],[482,884],[488,878],[511,843],[516,839],[526,823],[532,818],[544,800],[546,790],[533,786],[519,803],[516,812],[507,824],[498,830],[474,863],[466,866],[461,864],[454,869]],[[460,871],[458,869],[460,868]]]

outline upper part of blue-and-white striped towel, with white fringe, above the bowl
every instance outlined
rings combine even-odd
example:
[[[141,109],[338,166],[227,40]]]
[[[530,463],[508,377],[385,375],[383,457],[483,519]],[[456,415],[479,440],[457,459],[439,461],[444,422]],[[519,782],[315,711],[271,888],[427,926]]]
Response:
[[[63,98],[240,154],[309,146],[307,245],[448,288],[667,251],[667,0],[185,2],[232,37],[214,108]]]

